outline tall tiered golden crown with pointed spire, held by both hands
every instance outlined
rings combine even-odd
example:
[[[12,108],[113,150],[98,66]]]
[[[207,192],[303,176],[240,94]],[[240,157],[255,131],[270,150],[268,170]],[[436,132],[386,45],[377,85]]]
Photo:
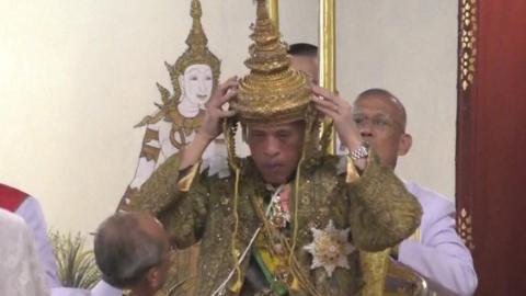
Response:
[[[232,107],[242,122],[293,122],[304,119],[310,103],[310,84],[290,68],[286,45],[268,18],[265,0],[258,0],[254,42],[244,65],[250,73],[240,79]]]

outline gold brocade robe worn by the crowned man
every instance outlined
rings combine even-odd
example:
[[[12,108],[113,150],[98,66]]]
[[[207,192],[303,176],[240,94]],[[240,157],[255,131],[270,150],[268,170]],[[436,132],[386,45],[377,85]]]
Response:
[[[197,166],[180,175],[179,161],[179,153],[167,160],[124,209],[148,210],[159,217],[178,248],[201,241],[196,295],[211,295],[235,267],[232,243],[242,252],[261,226],[251,198],[267,198],[268,192],[250,158],[241,162],[237,205],[235,178],[197,174]],[[310,159],[301,167],[299,192],[290,194],[290,205],[298,203],[295,257],[321,295],[359,295],[366,278],[357,251],[347,255],[350,269],[336,267],[332,276],[323,267],[310,269],[312,255],[304,247],[313,240],[311,228],[323,229],[332,219],[338,229],[351,228],[348,240],[358,250],[380,251],[409,237],[420,224],[422,209],[392,170],[380,166],[376,157],[353,183],[346,183],[336,167],[336,157]],[[295,206],[290,208],[295,216]],[[218,295],[239,295],[236,283],[244,280],[249,260],[250,255],[241,262],[240,274],[236,273]],[[290,289],[289,295],[309,294]]]

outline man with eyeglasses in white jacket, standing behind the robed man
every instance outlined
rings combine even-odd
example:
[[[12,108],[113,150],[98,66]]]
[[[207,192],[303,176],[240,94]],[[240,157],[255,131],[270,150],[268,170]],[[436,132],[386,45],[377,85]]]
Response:
[[[398,157],[407,155],[412,144],[400,100],[387,90],[366,90],[354,102],[353,118],[380,163],[395,170]],[[455,230],[453,203],[413,182],[404,184],[421,203],[424,215],[415,234],[400,243],[398,260],[426,277],[435,291],[472,295],[477,274],[471,253]]]

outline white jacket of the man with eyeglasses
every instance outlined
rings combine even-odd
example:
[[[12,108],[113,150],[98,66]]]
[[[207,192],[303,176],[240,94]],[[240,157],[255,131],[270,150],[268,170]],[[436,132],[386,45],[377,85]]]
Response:
[[[439,295],[472,295],[477,274],[468,248],[455,229],[453,203],[425,187],[408,187],[422,205],[424,215],[420,241],[404,240],[400,244],[399,261],[426,277]]]

